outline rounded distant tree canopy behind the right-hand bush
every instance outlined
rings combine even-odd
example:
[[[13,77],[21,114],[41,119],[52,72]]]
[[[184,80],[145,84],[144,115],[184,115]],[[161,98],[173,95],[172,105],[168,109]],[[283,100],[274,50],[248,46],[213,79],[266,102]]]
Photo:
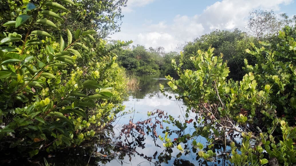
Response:
[[[239,29],[215,30],[209,34],[200,36],[194,39],[193,42],[188,42],[184,50],[184,69],[194,69],[194,65],[190,63],[190,57],[197,53],[198,50],[206,51],[210,46],[216,48],[215,55],[223,53],[224,61],[228,61],[228,66],[231,69],[230,78],[242,78],[244,66],[244,58],[247,58],[252,63],[252,57],[244,50],[250,48],[250,43],[256,40],[242,32]]]

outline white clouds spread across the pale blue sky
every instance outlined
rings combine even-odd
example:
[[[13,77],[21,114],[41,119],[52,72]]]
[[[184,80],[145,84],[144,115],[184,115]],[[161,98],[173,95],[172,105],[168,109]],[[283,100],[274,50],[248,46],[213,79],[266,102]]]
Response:
[[[144,6],[153,1],[129,0],[128,3],[132,9],[132,7]],[[135,25],[122,27],[122,32],[115,34],[112,38],[130,39],[134,41],[134,45],[140,44],[146,48],[163,46],[165,51],[176,51],[177,45],[192,41],[215,29],[240,28],[243,30],[249,13],[254,9],[279,11],[280,4],[288,5],[292,2],[293,0],[222,0],[207,6],[201,14],[192,17],[176,15],[172,20],[157,23],[149,20],[140,27]]]

